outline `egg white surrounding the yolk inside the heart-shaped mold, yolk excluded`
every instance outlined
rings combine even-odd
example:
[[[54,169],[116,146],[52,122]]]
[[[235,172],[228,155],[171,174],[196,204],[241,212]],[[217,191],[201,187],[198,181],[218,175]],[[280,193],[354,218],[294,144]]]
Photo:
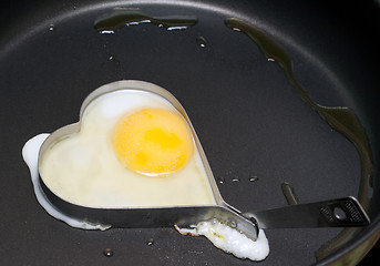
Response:
[[[164,98],[138,90],[104,94],[85,109],[79,133],[47,150],[40,174],[61,198],[91,207],[210,205],[215,198],[198,150],[181,170],[146,177],[127,170],[113,150],[113,131],[125,114],[140,109],[176,109]]]

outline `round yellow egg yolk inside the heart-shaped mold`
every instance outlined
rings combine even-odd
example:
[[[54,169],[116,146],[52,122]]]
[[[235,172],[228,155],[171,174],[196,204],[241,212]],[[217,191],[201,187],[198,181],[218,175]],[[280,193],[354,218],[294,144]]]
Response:
[[[144,109],[126,114],[117,122],[113,146],[127,168],[160,176],[186,164],[193,153],[193,139],[178,113]]]

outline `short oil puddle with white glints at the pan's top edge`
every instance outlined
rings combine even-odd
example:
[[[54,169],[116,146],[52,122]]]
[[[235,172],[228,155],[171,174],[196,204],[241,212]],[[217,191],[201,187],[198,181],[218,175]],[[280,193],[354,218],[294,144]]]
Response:
[[[100,16],[94,22],[94,28],[100,33],[111,34],[121,28],[142,23],[153,23],[167,30],[183,30],[196,24],[197,21],[194,16],[152,17],[141,9],[115,8]]]

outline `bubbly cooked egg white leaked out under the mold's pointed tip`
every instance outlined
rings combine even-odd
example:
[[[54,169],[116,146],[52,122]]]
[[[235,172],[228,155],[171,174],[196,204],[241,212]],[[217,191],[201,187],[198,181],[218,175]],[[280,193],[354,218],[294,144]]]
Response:
[[[182,235],[203,235],[207,237],[217,248],[230,253],[238,258],[249,258],[251,260],[263,260],[269,254],[268,239],[263,229],[259,231],[256,241],[251,241],[246,235],[239,233],[220,222],[201,222],[192,228],[175,228]]]

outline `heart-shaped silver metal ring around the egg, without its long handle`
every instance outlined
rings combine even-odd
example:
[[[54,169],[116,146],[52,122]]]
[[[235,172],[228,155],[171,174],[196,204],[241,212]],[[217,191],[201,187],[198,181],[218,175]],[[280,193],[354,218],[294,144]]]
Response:
[[[85,109],[97,98],[114,93],[121,90],[140,90],[155,93],[167,100],[185,119],[191,133],[193,135],[195,146],[201,156],[207,181],[212,190],[215,204],[209,205],[191,205],[191,206],[152,206],[152,207],[92,207],[72,203],[65,198],[60,197],[52,192],[45,184],[40,172],[41,162],[45,152],[60,140],[68,137],[70,134],[76,133],[81,130],[81,122]],[[166,227],[173,226],[188,226],[197,224],[202,221],[212,218],[222,219],[227,224],[234,225],[238,231],[244,232],[248,237],[256,239],[258,227],[255,222],[251,222],[240,215],[240,212],[228,205],[220,196],[216,182],[214,180],[212,170],[207,162],[206,155],[202,149],[201,142],[195,133],[195,130],[181,103],[165,89],[155,84],[127,80],[117,81],[105,84],[92,93],[90,93],[80,111],[80,122],[63,126],[53,132],[43,142],[39,152],[39,183],[47,200],[61,213],[79,221],[84,221],[90,224],[105,224],[113,227]],[[153,204],[154,205],[154,204]]]

